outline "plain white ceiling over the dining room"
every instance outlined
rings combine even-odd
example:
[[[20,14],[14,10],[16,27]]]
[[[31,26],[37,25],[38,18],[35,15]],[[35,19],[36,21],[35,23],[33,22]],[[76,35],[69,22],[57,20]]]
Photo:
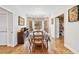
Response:
[[[17,8],[18,11],[25,13],[26,15],[53,15],[58,10],[62,10],[69,5],[7,5],[13,8]]]

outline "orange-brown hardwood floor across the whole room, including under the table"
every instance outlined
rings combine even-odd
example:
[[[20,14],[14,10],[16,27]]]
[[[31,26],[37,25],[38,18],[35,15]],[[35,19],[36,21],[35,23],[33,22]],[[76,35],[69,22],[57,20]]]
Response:
[[[36,47],[33,48],[31,52],[23,49],[23,45],[18,45],[16,47],[2,47],[0,46],[0,54],[73,54],[69,49],[64,47],[63,38],[53,39],[52,42],[54,50],[50,51],[47,48]],[[52,46],[53,46],[52,45]]]

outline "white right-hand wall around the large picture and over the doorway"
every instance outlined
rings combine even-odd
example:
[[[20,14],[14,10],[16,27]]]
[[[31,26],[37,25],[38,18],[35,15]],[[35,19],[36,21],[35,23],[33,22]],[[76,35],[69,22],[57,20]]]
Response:
[[[54,18],[64,13],[64,45],[72,52],[79,52],[79,21],[68,22],[68,9],[73,6],[63,7],[54,14]]]

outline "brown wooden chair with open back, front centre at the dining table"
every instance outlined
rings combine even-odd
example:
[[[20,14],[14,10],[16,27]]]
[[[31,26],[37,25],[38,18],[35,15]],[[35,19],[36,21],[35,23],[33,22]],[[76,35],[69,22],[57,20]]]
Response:
[[[33,32],[33,45],[34,45],[34,47],[41,46],[43,48],[43,44],[44,44],[43,31],[34,31]]]

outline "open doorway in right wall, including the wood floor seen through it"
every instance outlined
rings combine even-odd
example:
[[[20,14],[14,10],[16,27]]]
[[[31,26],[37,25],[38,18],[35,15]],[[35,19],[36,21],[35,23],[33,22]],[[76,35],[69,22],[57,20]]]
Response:
[[[55,18],[56,48],[64,47],[64,14]]]

